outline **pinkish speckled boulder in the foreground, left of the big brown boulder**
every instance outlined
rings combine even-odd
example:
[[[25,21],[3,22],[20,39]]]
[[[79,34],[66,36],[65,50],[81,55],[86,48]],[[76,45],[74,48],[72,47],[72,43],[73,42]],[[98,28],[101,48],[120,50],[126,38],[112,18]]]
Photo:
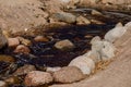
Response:
[[[52,76],[50,73],[40,72],[40,71],[33,71],[29,72],[25,77],[25,85],[26,86],[39,86],[49,84],[52,82]]]

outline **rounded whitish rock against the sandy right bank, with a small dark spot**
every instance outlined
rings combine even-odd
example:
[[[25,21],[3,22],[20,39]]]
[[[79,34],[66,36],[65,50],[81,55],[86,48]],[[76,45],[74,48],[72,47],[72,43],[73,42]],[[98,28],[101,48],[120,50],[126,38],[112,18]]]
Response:
[[[116,48],[108,41],[103,41],[103,48],[100,50],[100,57],[103,61],[110,60],[115,57]]]

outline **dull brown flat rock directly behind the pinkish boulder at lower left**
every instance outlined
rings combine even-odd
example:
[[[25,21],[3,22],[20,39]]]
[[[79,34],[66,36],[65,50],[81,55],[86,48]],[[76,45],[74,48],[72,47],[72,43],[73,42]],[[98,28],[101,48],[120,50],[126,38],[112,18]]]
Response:
[[[16,75],[25,75],[25,74],[27,74],[27,73],[29,73],[29,72],[32,72],[32,71],[35,71],[35,70],[36,70],[36,69],[35,69],[34,65],[28,65],[28,64],[26,64],[26,65],[17,69],[16,72],[13,73],[13,75],[15,75],[15,76],[16,76]]]

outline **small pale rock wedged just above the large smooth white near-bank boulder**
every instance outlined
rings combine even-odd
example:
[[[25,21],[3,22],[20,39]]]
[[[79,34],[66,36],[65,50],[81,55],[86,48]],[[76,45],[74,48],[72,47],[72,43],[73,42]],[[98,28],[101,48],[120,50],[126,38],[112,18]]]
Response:
[[[85,53],[83,55],[92,59],[95,63],[97,63],[97,62],[99,62],[102,60],[99,52],[97,52],[96,50],[91,50],[91,51],[88,51],[87,53]]]

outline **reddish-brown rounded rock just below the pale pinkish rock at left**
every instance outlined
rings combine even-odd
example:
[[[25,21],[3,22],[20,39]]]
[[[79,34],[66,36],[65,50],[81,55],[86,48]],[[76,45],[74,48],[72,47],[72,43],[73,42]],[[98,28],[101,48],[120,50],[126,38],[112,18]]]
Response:
[[[15,50],[15,53],[29,53],[31,50],[28,49],[28,47],[24,46],[24,45],[19,45]]]

